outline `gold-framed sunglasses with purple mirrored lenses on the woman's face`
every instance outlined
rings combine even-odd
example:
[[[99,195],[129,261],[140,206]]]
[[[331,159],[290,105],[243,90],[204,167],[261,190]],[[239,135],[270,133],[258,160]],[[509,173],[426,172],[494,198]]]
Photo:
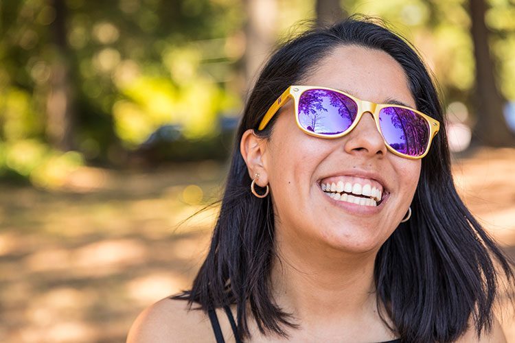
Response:
[[[437,134],[439,121],[402,105],[376,104],[332,88],[289,86],[264,115],[258,130],[292,98],[297,126],[314,137],[339,138],[358,125],[363,113],[371,113],[388,150],[401,157],[426,156]]]

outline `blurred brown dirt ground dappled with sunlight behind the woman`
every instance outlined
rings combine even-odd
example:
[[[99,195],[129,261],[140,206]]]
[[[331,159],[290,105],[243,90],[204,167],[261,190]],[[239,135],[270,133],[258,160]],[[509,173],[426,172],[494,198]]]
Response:
[[[141,309],[187,287],[225,166],[84,168],[61,191],[0,185],[0,342],[124,342]],[[515,149],[455,158],[472,213],[515,257]],[[508,342],[514,320],[503,318]]]

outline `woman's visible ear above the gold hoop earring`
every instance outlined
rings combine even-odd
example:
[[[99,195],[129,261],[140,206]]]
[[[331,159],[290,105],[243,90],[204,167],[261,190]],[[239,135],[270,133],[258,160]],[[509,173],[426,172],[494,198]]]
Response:
[[[243,132],[240,141],[240,152],[243,156],[249,176],[255,178],[255,174],[260,174],[260,178],[255,183],[260,187],[268,185],[268,173],[266,172],[266,139],[258,137],[254,130],[249,129]]]

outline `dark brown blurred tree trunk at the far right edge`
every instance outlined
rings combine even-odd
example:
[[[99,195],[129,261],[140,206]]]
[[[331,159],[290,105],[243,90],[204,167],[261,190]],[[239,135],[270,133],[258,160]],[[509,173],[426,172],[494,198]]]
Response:
[[[474,143],[479,145],[515,145],[515,134],[507,127],[503,115],[504,99],[496,86],[494,63],[488,46],[488,27],[485,25],[486,4],[484,0],[470,0],[470,33],[474,43],[476,62],[474,106],[477,124],[474,128]]]

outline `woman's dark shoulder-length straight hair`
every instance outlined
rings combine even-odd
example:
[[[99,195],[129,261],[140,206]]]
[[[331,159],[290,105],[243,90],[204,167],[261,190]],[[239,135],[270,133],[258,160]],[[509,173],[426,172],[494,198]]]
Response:
[[[492,306],[500,285],[499,263],[512,285],[509,259],[459,198],[450,170],[442,105],[415,49],[384,24],[352,16],[335,25],[304,32],[280,47],[264,65],[238,128],[220,214],[209,253],[192,289],[175,298],[208,309],[236,304],[238,330],[249,337],[251,310],[262,333],[285,335],[295,327],[271,299],[268,276],[275,256],[271,198],[251,194],[251,178],[240,154],[242,134],[257,128],[268,106],[290,84],[299,84],[317,64],[342,45],[379,49],[404,69],[417,109],[442,128],[422,171],[411,208],[378,251],[374,279],[381,318],[403,342],[450,342],[463,335],[470,319],[479,334],[492,329]],[[266,130],[269,137],[274,119]],[[261,190],[263,191],[263,190]],[[384,311],[383,311],[384,310]]]

